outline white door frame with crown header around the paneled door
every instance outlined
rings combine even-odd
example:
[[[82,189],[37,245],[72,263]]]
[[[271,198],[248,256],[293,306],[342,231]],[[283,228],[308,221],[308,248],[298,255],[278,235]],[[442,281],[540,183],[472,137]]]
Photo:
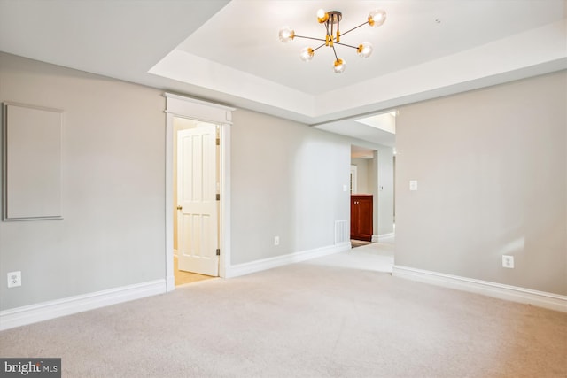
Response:
[[[219,276],[226,277],[230,264],[230,127],[235,108],[165,93],[166,106],[166,287],[175,289],[174,276],[174,118],[187,118],[220,126],[221,203]]]

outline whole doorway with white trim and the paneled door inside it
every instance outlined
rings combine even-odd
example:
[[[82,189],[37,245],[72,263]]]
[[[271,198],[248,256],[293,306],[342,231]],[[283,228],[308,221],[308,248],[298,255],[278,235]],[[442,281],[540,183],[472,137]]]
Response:
[[[166,275],[167,291],[171,291],[181,283],[175,280],[175,271],[228,274],[229,135],[235,109],[169,93],[165,96]],[[180,162],[185,166],[179,166]]]

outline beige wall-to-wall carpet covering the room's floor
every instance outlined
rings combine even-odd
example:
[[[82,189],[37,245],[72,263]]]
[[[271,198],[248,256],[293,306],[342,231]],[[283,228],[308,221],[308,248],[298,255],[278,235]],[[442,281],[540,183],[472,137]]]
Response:
[[[0,356],[61,357],[65,377],[567,376],[567,314],[340,258],[7,330]]]

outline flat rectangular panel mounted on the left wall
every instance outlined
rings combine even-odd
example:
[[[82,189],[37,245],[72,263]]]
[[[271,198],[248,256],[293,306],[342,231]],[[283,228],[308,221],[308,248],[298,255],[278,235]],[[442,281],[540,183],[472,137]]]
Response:
[[[3,220],[61,219],[63,112],[3,104]]]

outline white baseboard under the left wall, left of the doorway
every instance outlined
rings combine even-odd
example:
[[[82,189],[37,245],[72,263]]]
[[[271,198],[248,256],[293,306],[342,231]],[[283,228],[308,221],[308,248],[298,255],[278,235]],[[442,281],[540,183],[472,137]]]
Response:
[[[37,305],[17,307],[0,312],[0,330],[93,310],[106,305],[116,305],[134,299],[151,297],[165,292],[166,281],[155,280],[81,296],[66,297]]]

